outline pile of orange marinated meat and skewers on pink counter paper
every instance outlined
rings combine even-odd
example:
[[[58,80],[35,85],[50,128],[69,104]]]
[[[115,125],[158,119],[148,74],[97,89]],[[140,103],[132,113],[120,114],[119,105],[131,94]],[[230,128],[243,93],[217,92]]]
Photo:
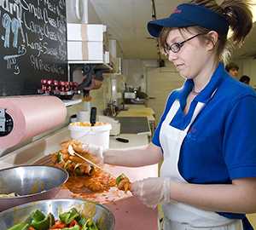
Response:
[[[64,141],[61,143],[61,150],[52,154],[51,160],[57,167],[68,171],[70,177],[66,183],[69,190],[74,193],[84,192],[84,188],[91,192],[108,191],[110,187],[115,187],[115,178],[96,169],[83,159],[72,156],[68,153],[68,146],[71,145],[75,152],[78,152],[84,158],[98,164],[90,152],[84,151],[80,141]]]

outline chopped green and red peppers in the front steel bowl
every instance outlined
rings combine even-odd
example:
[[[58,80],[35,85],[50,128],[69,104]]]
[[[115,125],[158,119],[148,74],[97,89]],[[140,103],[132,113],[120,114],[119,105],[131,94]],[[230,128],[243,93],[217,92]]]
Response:
[[[40,210],[32,212],[22,221],[8,230],[99,230],[95,221],[86,218],[75,208],[59,214],[59,219],[55,220],[55,216],[49,213],[44,215]]]

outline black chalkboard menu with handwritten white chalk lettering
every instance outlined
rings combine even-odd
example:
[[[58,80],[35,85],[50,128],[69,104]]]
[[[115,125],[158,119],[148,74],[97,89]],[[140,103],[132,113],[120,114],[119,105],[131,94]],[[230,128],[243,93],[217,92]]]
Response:
[[[0,0],[0,96],[67,81],[65,0]]]

